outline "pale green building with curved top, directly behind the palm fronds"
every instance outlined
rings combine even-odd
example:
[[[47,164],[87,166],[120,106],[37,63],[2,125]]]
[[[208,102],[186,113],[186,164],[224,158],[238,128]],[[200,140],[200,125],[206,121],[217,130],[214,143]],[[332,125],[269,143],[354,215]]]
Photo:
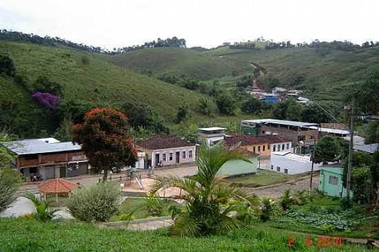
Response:
[[[249,158],[251,163],[243,160],[230,160],[218,171],[217,175],[223,176],[240,176],[243,174],[254,174],[258,167],[258,157]]]

